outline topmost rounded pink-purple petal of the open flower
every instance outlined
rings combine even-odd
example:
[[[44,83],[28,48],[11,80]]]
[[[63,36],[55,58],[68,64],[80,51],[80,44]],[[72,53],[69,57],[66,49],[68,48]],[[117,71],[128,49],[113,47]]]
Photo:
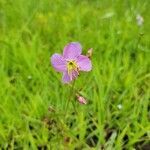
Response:
[[[66,59],[74,59],[78,57],[82,52],[82,47],[78,42],[71,42],[65,46],[63,56]]]

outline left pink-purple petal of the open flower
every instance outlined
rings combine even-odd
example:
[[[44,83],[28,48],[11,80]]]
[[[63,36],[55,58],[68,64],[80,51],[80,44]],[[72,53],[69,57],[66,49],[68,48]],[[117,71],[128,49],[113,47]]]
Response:
[[[66,60],[60,54],[52,55],[51,63],[54,69],[58,72],[64,72],[67,70]]]

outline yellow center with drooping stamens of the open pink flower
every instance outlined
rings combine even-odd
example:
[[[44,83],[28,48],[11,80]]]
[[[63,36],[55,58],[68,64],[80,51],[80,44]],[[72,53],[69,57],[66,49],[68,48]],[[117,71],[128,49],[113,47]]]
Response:
[[[75,71],[79,74],[79,66],[77,65],[76,61],[69,60],[67,62],[67,71],[68,74],[71,76],[72,72]]]

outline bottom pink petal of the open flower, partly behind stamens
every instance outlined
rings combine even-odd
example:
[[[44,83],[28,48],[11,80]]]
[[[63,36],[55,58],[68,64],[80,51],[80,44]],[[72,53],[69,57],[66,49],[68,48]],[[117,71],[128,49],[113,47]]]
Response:
[[[77,76],[78,76],[78,72],[76,72],[76,71],[72,71],[70,75],[66,71],[66,72],[63,73],[62,81],[64,83],[69,83],[72,80],[74,80],[75,78],[77,78]]]

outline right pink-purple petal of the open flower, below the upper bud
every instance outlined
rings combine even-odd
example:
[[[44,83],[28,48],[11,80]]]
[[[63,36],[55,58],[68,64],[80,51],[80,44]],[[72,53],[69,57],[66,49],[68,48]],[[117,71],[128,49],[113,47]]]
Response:
[[[92,69],[91,60],[87,56],[78,56],[77,64],[79,66],[79,70],[81,71],[90,71]]]

